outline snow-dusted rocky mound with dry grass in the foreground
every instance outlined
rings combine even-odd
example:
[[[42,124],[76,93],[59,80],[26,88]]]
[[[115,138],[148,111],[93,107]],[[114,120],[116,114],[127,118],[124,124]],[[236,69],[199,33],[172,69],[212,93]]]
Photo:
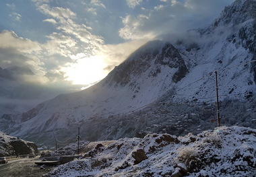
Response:
[[[220,127],[185,137],[119,139],[47,176],[256,176],[256,130]]]

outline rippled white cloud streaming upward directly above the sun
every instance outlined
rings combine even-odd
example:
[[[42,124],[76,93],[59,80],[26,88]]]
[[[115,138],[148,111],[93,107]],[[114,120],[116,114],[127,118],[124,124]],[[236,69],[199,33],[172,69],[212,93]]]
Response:
[[[93,5],[102,6],[100,1],[91,1]],[[101,36],[90,32],[92,28],[86,24],[75,22],[76,14],[69,8],[50,7],[46,3],[38,5],[38,10],[51,19],[43,20],[55,25],[56,32],[46,36],[49,41],[44,45],[49,48],[49,55],[59,54],[64,57],[75,55],[75,52],[84,52],[88,56],[95,55],[100,45],[104,43]],[[95,12],[96,13],[96,12]]]

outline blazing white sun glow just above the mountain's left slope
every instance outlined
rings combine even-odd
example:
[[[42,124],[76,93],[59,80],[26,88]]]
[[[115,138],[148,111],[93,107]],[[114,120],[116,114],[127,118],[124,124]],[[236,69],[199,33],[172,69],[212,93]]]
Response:
[[[93,85],[108,74],[104,68],[107,65],[102,56],[82,57],[76,63],[63,67],[65,77],[75,85]]]

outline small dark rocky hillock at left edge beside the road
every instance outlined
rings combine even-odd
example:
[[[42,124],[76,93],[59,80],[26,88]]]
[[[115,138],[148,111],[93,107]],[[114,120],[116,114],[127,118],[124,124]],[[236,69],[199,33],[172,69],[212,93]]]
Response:
[[[35,143],[0,132],[0,157],[38,153]]]

